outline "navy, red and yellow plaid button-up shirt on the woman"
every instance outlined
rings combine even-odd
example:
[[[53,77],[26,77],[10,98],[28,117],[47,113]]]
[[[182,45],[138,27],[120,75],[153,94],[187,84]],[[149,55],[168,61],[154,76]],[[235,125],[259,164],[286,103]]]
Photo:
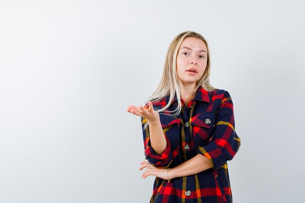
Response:
[[[164,107],[169,96],[154,102]],[[198,89],[188,107],[181,99],[178,116],[159,114],[167,147],[158,155],[150,144],[149,126],[143,131],[145,158],[157,168],[173,168],[197,154],[206,156],[211,168],[186,177],[167,180],[156,177],[150,203],[232,203],[227,161],[240,147],[234,129],[233,103],[229,92]],[[169,110],[177,107],[176,95]],[[142,129],[146,119],[141,117]]]

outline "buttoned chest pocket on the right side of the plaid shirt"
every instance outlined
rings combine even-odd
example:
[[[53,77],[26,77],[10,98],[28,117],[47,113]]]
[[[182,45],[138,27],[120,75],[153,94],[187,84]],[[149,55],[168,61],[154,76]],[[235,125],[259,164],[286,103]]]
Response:
[[[210,140],[215,126],[215,119],[215,111],[206,111],[192,116],[193,139],[197,145],[202,145]]]

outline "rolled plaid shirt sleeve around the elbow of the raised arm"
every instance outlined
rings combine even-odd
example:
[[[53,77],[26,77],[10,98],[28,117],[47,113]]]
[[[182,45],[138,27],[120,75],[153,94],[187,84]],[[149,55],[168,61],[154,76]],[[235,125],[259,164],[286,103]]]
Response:
[[[161,155],[157,154],[151,146],[149,125],[146,129],[144,129],[146,118],[141,117],[141,123],[144,139],[145,159],[147,159],[153,166],[157,168],[168,168],[173,160],[172,148],[169,139],[165,136],[166,148]]]

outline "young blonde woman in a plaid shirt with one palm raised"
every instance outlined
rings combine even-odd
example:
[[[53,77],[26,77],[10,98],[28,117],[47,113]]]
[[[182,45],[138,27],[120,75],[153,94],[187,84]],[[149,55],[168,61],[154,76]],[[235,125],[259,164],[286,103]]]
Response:
[[[227,161],[240,147],[228,91],[209,81],[210,51],[195,32],[177,35],[168,49],[158,88],[141,116],[142,178],[156,176],[150,203],[232,203]]]

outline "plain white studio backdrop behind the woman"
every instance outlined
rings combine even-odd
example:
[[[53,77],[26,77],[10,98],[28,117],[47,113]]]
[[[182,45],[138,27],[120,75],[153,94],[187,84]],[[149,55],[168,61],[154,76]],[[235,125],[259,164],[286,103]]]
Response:
[[[181,32],[234,104],[234,203],[304,201],[303,0],[0,0],[0,203],[148,203],[140,117]]]

